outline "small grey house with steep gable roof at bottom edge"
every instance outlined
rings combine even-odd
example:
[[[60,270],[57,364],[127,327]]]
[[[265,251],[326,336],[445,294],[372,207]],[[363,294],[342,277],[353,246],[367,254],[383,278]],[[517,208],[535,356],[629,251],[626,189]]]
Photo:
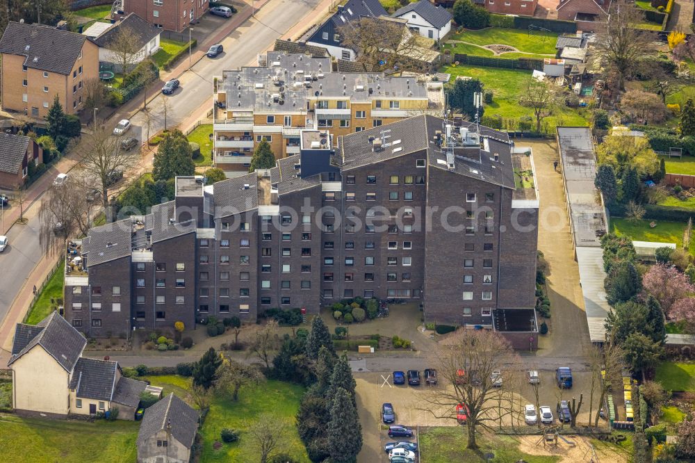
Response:
[[[174,393],[145,410],[138,432],[138,463],[188,463],[199,414]]]

